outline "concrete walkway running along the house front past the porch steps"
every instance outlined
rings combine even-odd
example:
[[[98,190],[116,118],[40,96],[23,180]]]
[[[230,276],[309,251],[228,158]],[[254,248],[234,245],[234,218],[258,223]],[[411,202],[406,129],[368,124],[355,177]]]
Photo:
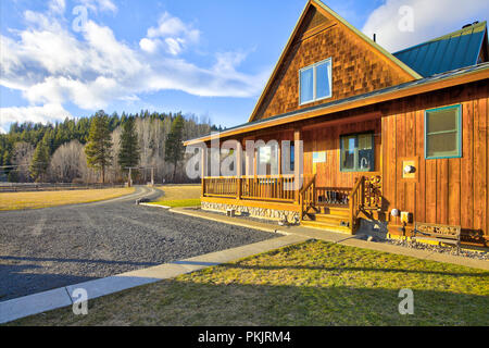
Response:
[[[330,243],[338,243],[346,246],[385,251],[390,253],[402,254],[406,257],[413,257],[423,260],[431,260],[438,262],[452,263],[457,265],[464,265],[474,269],[489,270],[489,261],[477,260],[457,256],[451,256],[446,253],[439,253],[428,250],[410,249],[401,246],[394,246],[385,243],[374,243],[359,239],[356,236],[351,236],[342,233],[329,232],[326,229],[310,228],[303,226],[279,226],[273,223],[256,222],[253,220],[246,220],[240,217],[228,217],[212,212],[204,212],[202,210],[192,210],[188,208],[173,208],[172,212],[197,216],[201,219],[210,219],[226,224],[244,226],[249,228],[255,228],[266,232],[278,232],[288,235],[302,236],[304,238],[321,239]]]

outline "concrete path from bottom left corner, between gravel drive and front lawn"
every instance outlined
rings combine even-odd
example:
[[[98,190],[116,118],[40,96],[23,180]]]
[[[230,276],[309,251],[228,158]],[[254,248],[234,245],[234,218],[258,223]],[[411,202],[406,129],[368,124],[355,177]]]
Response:
[[[256,253],[281,248],[288,245],[305,241],[308,237],[300,235],[281,235],[277,238],[250,244],[223,251],[211,252],[199,257],[165,263],[149,269],[137,270],[99,278],[49,291],[15,298],[0,302],[0,324],[28,315],[34,315],[53,309],[72,306],[78,299],[74,290],[82,288],[87,291],[88,300],[129,289],[133,287],[172,278],[180,274],[195,272],[209,266],[218,265]]]

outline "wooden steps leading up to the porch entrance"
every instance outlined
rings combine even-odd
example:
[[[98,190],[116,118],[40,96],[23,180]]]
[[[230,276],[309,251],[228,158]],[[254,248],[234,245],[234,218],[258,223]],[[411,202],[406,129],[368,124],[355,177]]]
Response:
[[[350,211],[342,207],[322,207],[317,213],[306,213],[301,225],[351,234]]]

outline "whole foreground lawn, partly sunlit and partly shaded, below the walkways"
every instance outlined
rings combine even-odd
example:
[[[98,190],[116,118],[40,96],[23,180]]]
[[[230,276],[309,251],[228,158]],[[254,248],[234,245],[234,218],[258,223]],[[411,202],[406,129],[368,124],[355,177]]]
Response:
[[[489,325],[489,272],[310,240],[14,325]],[[398,311],[414,291],[414,314]]]

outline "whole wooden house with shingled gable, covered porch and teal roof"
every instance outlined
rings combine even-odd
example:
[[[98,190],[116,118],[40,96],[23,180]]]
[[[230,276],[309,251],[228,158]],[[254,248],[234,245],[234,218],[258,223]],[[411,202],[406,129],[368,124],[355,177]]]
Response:
[[[240,145],[234,175],[201,151],[202,208],[346,233],[461,226],[487,246],[488,59],[486,22],[390,53],[310,0],[249,122],[185,142]],[[289,158],[269,140],[291,141]]]

